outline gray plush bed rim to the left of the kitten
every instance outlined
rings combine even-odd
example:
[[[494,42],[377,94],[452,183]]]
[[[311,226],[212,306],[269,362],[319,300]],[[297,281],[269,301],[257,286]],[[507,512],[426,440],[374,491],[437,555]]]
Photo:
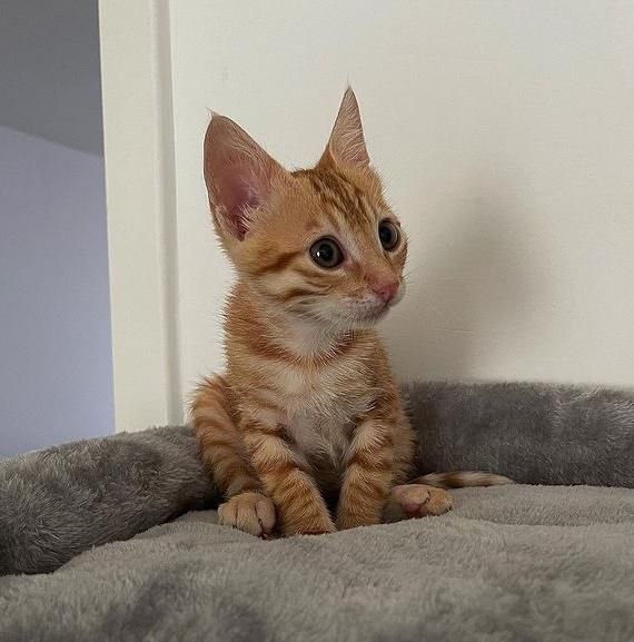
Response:
[[[63,444],[0,462],[0,575],[53,571],[81,551],[214,504],[186,427]]]

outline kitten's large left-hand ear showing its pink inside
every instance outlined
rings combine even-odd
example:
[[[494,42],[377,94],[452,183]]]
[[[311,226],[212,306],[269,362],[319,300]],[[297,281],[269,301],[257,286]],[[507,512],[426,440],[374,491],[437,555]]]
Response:
[[[205,182],[220,236],[242,240],[257,209],[287,171],[230,118],[214,115],[205,135]]]

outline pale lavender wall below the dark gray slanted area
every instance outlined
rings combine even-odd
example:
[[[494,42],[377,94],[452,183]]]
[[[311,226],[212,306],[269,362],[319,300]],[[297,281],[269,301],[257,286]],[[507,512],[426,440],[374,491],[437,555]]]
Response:
[[[0,458],[113,428],[103,159],[0,127]]]

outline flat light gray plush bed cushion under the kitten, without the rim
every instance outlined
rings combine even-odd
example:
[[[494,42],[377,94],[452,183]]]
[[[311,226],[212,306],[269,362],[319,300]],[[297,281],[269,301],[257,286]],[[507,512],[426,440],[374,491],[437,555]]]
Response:
[[[455,491],[442,517],[265,542],[189,513],[0,577],[2,642],[632,642],[634,491]]]

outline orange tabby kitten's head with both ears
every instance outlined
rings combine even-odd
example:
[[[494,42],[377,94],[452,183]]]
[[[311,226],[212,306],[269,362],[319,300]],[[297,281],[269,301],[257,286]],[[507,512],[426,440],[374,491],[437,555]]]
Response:
[[[289,315],[363,327],[400,299],[407,241],[369,165],[351,89],[313,169],[287,171],[232,120],[214,116],[205,181],[238,274]]]

